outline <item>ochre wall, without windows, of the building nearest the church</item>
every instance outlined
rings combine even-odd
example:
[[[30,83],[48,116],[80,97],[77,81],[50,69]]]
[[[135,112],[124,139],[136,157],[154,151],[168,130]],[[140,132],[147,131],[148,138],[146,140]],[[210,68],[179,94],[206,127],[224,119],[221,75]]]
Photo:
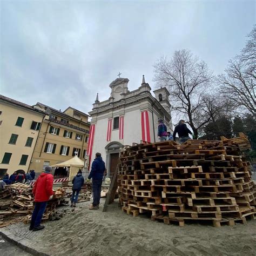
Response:
[[[60,120],[59,117],[57,117],[57,119]],[[69,120],[69,124],[76,125],[79,127],[80,122]],[[59,128],[60,129],[59,135],[54,135],[49,133],[50,126]],[[90,130],[89,125],[80,124],[80,127],[86,130]],[[71,139],[65,138],[63,136],[65,130],[73,132]],[[76,140],[76,133],[82,134],[83,139]],[[85,135],[85,132],[83,131],[72,129],[71,127],[64,126],[62,124],[57,124],[54,122],[49,123],[49,120],[47,120],[47,117],[46,117],[38,136],[37,145],[35,147],[35,151],[32,157],[32,163],[30,164],[30,169],[33,169],[36,172],[42,172],[45,161],[49,161],[50,162],[49,165],[53,165],[53,164],[58,164],[58,163],[62,163],[63,161],[69,160],[73,158],[72,152],[74,147],[80,149],[79,158],[84,160],[83,151],[84,150],[87,151],[87,143],[85,143],[85,137],[89,137],[89,134]],[[55,153],[44,152],[46,143],[56,144]],[[62,154],[60,154],[60,148],[62,145],[70,147],[69,156],[62,156]]]

